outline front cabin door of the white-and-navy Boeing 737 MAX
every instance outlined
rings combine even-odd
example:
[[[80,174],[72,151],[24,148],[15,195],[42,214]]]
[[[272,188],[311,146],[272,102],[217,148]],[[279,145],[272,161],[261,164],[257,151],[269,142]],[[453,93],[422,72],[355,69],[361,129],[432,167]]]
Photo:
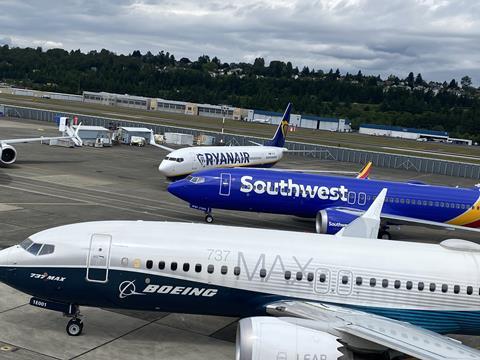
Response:
[[[93,234],[87,258],[87,281],[106,283],[110,267],[112,236]]]

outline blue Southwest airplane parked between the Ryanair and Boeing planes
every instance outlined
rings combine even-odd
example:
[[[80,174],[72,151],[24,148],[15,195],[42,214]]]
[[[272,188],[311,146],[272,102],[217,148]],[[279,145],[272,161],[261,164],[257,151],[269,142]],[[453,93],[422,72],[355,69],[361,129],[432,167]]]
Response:
[[[214,208],[315,218],[318,233],[335,234],[363,214],[383,189],[388,196],[379,237],[389,225],[424,225],[480,231],[480,191],[421,183],[365,180],[269,169],[196,172],[168,191],[212,222]]]

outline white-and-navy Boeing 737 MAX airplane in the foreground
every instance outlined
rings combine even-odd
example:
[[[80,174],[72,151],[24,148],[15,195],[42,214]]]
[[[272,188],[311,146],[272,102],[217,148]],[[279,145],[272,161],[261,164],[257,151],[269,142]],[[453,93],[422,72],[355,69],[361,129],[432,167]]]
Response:
[[[335,236],[143,221],[60,226],[0,251],[0,280],[31,305],[70,316],[72,336],[83,330],[80,306],[94,306],[240,317],[240,360],[480,359],[440,335],[480,334],[480,246],[372,238],[386,192]]]

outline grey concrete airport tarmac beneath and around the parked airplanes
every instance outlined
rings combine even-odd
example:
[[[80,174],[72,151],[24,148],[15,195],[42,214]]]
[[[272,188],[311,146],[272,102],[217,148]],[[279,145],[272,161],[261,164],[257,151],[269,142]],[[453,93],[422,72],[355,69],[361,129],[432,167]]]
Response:
[[[58,135],[52,124],[0,119],[0,139]],[[0,168],[0,247],[50,227],[93,220],[203,221],[203,214],[166,192],[157,167],[166,152],[153,147],[63,148],[18,144],[17,162]],[[361,165],[288,155],[277,167],[359,170]],[[473,186],[471,179],[374,168],[372,178]],[[215,223],[313,232],[287,216],[214,211]],[[395,239],[439,242],[424,228],[392,229]],[[159,234],[161,236],[161,234]],[[172,239],[175,241],[175,239]],[[381,240],[379,240],[381,241]],[[233,359],[236,319],[82,308],[84,334],[65,332],[61,314],[28,305],[29,297],[0,285],[0,359]],[[234,304],[232,304],[234,306]],[[476,337],[462,337],[479,346]]]

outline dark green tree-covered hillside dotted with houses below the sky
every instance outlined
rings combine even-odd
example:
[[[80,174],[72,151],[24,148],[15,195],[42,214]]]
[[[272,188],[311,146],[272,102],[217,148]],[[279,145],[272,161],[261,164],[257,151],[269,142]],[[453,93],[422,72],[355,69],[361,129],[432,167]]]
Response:
[[[0,47],[0,81],[19,87],[81,94],[107,91],[250,109],[344,117],[361,123],[446,130],[480,142],[480,89],[470,77],[458,82],[427,82],[410,72],[405,78],[342,74],[293,67],[263,58],[222,63],[217,57],[176,59],[173,54],[108,50],[82,53],[41,48]]]

